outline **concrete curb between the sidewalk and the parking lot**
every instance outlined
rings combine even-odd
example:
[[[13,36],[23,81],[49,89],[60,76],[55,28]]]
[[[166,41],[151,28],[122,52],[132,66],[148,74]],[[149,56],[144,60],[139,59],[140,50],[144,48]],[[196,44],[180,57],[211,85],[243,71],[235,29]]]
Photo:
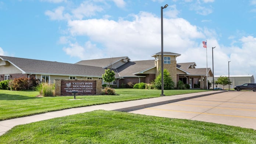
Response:
[[[192,99],[192,98],[204,97],[204,96],[209,96],[209,95],[212,95],[212,94],[218,94],[218,93],[224,93],[224,92],[228,92],[228,91],[227,90],[216,91],[216,92],[210,93],[210,94],[200,94],[200,95],[196,95],[196,96],[183,97],[183,98],[178,98],[178,99],[174,99],[174,100],[167,100],[167,101],[160,101],[160,102],[154,102],[154,103],[149,103],[149,104],[136,105],[136,106],[133,106],[133,107],[114,109],[112,111],[120,111],[120,112],[136,111],[136,110],[139,110],[139,109],[155,107],[155,106],[159,106],[159,105],[170,104],[170,103],[173,103],[173,102],[184,101],[184,100],[189,100],[189,99]]]

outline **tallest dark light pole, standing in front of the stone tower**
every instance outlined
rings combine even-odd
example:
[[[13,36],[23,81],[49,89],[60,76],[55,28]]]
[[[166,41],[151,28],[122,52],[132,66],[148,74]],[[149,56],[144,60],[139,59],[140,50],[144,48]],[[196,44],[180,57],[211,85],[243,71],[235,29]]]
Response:
[[[161,82],[162,82],[162,93],[160,96],[164,95],[164,40],[163,40],[163,9],[167,8],[168,4],[166,4],[164,7],[161,7]]]

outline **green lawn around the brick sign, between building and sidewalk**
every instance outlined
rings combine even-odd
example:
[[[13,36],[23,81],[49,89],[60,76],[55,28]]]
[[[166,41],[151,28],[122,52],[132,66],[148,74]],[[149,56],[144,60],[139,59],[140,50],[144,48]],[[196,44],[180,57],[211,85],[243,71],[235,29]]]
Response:
[[[114,96],[63,96],[63,97],[36,97],[37,91],[10,91],[0,90],[0,120],[18,118],[22,116],[40,114],[74,107],[83,107],[111,102],[139,100],[143,98],[159,97],[161,90],[147,89],[115,89]],[[177,94],[196,93],[206,90],[164,90],[166,96]]]

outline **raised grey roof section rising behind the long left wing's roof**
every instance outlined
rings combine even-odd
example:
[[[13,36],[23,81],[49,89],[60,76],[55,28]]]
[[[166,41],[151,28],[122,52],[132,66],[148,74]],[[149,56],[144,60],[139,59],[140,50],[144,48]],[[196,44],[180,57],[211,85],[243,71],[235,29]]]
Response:
[[[75,64],[98,66],[98,67],[106,68],[110,64],[114,64],[115,62],[118,62],[125,58],[128,58],[130,60],[129,57],[113,57],[113,58],[101,58],[101,59],[95,59],[95,60],[82,60]]]

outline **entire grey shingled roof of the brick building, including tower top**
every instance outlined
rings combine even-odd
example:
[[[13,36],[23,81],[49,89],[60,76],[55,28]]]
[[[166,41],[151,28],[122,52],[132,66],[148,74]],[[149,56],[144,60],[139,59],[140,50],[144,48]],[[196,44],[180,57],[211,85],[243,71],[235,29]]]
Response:
[[[160,54],[161,52],[154,55]],[[164,52],[164,54],[177,56],[180,55],[170,52]],[[0,56],[0,59],[3,61],[8,61],[16,68],[18,68],[22,73],[42,75],[101,77],[102,74],[105,73],[105,69],[109,67],[110,64],[113,64],[117,67],[113,69],[115,71],[116,78],[138,77],[145,76],[143,74],[147,72],[152,73],[150,70],[156,68],[155,60],[131,61],[129,57],[83,60],[75,64],[7,56]],[[195,68],[195,66],[195,62],[177,63],[177,69],[186,72],[185,75],[206,76],[206,68]],[[211,72],[211,69],[208,69],[208,72]],[[212,75],[212,73],[210,73],[210,75]]]

